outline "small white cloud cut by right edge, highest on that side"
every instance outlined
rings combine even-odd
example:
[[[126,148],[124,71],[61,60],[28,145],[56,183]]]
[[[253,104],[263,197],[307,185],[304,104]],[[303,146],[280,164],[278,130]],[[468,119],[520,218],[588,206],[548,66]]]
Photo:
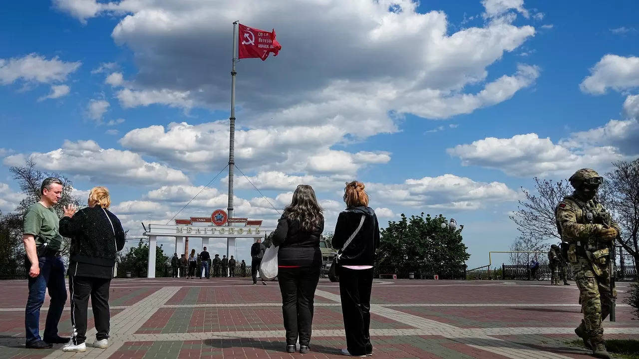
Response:
[[[591,95],[603,95],[608,88],[626,91],[639,87],[639,57],[612,54],[601,57],[579,87]]]

